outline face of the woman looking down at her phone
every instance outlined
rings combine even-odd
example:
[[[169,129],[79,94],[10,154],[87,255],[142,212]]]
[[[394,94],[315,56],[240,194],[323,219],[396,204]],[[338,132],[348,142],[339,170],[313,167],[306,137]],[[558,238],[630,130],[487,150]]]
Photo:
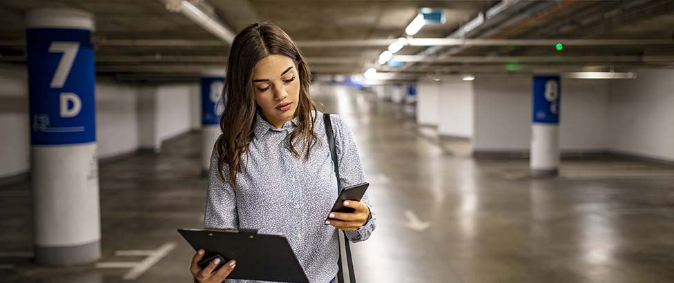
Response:
[[[283,55],[264,57],[253,68],[253,92],[264,119],[282,127],[293,119],[300,99],[295,62]]]

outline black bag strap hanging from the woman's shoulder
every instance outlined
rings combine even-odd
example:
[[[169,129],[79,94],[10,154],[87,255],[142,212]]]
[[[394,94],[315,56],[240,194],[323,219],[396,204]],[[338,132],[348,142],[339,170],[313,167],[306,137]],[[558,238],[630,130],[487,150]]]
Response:
[[[332,157],[332,163],[335,168],[335,176],[337,177],[337,190],[340,193],[342,191],[342,184],[339,178],[339,162],[337,161],[337,148],[335,146],[335,137],[334,131],[332,130],[332,121],[330,120],[330,114],[323,114],[323,124],[325,124],[325,135],[327,135],[327,142],[330,146],[330,156]],[[338,194],[339,195],[339,194]],[[339,233],[338,233],[339,234]],[[339,266],[339,271],[337,272],[338,283],[356,283],[356,272],[354,271],[354,260],[351,256],[351,247],[349,246],[349,240],[345,233],[338,235],[339,243],[339,259],[337,260],[337,265]],[[344,242],[344,254],[347,257],[347,266],[349,269],[349,281],[344,281],[344,271],[342,269],[342,242]]]

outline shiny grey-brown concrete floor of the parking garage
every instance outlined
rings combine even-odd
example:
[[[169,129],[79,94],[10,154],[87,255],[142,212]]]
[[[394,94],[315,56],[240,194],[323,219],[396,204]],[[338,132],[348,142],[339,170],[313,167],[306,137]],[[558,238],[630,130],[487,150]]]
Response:
[[[525,159],[472,159],[374,95],[313,91],[347,117],[372,184],[378,228],[354,245],[358,282],[674,282],[674,166],[565,159],[560,177],[530,179]],[[175,229],[202,226],[199,146],[192,133],[100,166],[99,263],[166,251],[135,280],[130,267],[30,264],[30,184],[0,188],[0,281],[190,282]]]

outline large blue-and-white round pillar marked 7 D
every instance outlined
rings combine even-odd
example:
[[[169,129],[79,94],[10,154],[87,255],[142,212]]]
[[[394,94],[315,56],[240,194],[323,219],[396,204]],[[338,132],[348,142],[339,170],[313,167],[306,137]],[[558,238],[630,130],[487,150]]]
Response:
[[[84,264],[101,254],[93,25],[79,10],[28,12],[37,264]]]

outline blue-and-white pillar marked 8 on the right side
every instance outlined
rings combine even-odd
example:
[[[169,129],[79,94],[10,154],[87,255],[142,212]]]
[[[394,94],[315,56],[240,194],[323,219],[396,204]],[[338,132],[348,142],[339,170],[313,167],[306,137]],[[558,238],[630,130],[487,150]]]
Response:
[[[555,176],[559,173],[559,75],[536,75],[533,95],[531,174]]]

